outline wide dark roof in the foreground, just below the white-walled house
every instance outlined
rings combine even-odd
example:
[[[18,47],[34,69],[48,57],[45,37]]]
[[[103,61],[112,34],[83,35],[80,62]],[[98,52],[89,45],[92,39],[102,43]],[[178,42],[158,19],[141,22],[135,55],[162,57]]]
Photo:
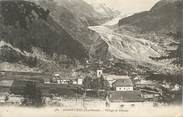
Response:
[[[111,92],[112,102],[143,102],[140,91],[113,91]]]

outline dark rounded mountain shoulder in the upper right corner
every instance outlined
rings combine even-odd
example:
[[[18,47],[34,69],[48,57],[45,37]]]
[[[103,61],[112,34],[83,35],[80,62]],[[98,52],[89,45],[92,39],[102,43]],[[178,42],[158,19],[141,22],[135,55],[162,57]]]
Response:
[[[132,25],[142,32],[175,32],[182,9],[183,0],[161,0],[150,11],[121,19],[119,25]]]

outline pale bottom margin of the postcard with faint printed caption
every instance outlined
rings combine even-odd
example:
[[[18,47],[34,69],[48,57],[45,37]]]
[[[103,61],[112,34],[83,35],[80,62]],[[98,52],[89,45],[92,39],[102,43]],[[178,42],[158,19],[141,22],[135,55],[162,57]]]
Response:
[[[124,109],[83,109],[83,108],[25,108],[25,107],[0,107],[0,117],[182,117],[182,108],[179,106],[156,107],[139,105],[134,108]]]

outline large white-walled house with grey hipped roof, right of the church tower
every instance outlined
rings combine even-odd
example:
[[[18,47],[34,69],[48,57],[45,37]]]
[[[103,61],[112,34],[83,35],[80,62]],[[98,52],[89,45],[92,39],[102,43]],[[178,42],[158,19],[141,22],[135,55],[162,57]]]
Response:
[[[133,91],[133,83],[128,76],[118,76],[120,79],[112,83],[113,89],[116,91]]]

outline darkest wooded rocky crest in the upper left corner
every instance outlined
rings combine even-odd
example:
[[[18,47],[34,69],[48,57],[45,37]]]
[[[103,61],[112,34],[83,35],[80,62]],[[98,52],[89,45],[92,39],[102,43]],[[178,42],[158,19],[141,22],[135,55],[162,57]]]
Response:
[[[36,18],[47,20],[49,10],[44,10],[40,6],[29,1],[1,1],[0,13],[5,25],[27,29],[30,23]]]

